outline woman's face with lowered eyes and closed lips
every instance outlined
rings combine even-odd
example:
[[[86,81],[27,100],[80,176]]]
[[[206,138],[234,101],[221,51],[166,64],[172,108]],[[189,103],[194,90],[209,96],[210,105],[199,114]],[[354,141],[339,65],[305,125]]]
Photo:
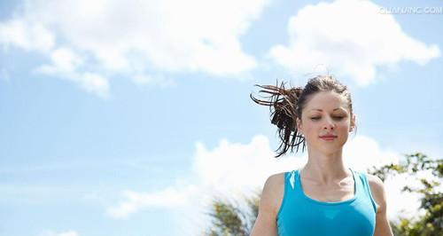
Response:
[[[355,116],[351,117],[346,98],[334,91],[311,95],[302,110],[301,121],[297,119],[308,150],[321,153],[341,151],[354,123]]]

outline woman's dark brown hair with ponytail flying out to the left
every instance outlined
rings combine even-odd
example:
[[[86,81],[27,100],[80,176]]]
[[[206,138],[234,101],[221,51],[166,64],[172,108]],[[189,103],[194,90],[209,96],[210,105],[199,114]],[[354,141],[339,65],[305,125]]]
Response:
[[[301,120],[302,111],[311,95],[321,91],[337,92],[343,98],[346,98],[351,117],[353,115],[351,93],[347,90],[346,85],[338,82],[331,75],[317,75],[309,79],[304,88],[291,87],[285,89],[285,83],[278,86],[278,81],[276,86],[259,84],[255,84],[255,86],[262,89],[259,93],[270,94],[270,96],[265,97],[268,98],[267,100],[254,98],[252,93],[250,98],[259,105],[269,106],[270,116],[272,117],[271,123],[277,126],[277,132],[281,139],[280,146],[276,149],[276,158],[285,154],[290,148],[291,153],[293,153],[294,148],[296,153],[299,152],[299,146],[302,146],[301,152],[305,151],[306,141],[297,129],[296,119]]]

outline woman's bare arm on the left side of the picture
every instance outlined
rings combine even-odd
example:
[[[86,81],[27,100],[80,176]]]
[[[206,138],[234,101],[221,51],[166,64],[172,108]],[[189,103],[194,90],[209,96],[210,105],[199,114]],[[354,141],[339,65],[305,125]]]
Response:
[[[268,177],[260,198],[259,216],[253,225],[251,236],[276,236],[276,188],[278,176]]]

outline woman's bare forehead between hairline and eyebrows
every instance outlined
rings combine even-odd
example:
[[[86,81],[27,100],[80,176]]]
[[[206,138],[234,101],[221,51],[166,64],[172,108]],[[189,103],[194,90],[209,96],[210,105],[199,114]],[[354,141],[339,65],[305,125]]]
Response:
[[[306,112],[314,111],[348,111],[348,101],[335,91],[321,91],[307,99],[304,107]]]

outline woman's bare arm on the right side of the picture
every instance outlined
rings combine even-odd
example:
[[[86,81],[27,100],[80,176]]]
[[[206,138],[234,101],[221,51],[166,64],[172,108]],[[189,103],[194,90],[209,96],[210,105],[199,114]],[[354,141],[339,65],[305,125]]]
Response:
[[[376,231],[374,236],[392,236],[391,225],[386,216],[386,193],[383,181],[377,177],[368,175],[369,186],[374,201],[377,203]]]

